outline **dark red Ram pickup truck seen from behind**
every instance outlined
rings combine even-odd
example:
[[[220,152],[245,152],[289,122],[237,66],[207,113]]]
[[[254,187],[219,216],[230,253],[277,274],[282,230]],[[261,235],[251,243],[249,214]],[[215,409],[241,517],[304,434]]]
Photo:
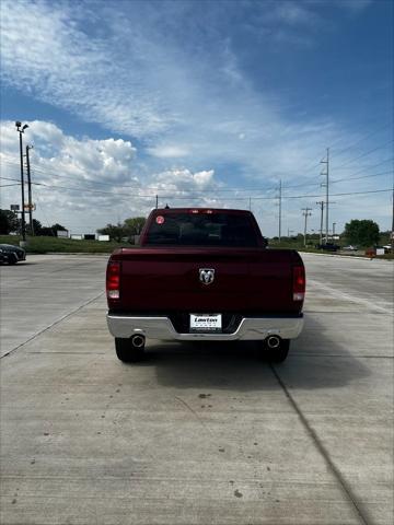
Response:
[[[291,249],[269,249],[250,211],[158,209],[140,246],[119,248],[106,272],[107,323],[118,359],[146,338],[260,340],[281,362],[303,325],[305,272]]]

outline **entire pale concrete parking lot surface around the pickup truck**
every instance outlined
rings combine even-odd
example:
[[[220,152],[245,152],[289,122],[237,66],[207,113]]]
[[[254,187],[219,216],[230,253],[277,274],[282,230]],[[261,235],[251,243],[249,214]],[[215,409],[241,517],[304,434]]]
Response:
[[[393,523],[393,264],[305,255],[305,327],[115,358],[102,256],[1,268],[2,525]]]

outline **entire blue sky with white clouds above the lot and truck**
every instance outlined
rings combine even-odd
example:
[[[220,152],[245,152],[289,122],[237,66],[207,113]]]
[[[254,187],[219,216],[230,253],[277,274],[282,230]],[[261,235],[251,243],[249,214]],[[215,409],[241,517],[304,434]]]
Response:
[[[393,2],[1,3],[2,208],[28,122],[35,217],[90,233],[155,203],[252,208],[303,231],[329,148],[340,232],[391,228]],[[346,194],[346,195],[341,195]]]

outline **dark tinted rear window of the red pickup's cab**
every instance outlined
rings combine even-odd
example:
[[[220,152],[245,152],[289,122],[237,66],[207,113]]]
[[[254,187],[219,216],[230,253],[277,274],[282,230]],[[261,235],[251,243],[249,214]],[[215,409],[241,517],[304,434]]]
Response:
[[[170,213],[157,215],[144,245],[258,246],[257,233],[247,214]]]

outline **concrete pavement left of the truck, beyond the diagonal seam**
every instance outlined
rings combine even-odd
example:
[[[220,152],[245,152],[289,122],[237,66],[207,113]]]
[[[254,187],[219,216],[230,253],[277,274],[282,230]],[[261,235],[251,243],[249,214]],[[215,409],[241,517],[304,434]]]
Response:
[[[108,256],[27,255],[1,266],[1,355],[105,290]]]

